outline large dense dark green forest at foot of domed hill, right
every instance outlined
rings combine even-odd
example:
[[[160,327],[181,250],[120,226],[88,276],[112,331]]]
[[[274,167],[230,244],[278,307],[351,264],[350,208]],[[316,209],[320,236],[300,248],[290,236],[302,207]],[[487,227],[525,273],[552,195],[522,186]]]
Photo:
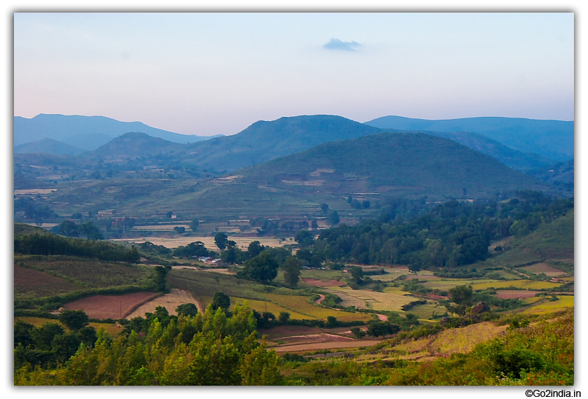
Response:
[[[516,194],[506,202],[451,200],[409,221],[382,213],[376,220],[340,225],[321,232],[309,248],[310,254],[303,256],[316,265],[344,260],[409,265],[413,271],[468,265],[489,256],[491,240],[527,235],[574,206],[573,199],[531,191]]]

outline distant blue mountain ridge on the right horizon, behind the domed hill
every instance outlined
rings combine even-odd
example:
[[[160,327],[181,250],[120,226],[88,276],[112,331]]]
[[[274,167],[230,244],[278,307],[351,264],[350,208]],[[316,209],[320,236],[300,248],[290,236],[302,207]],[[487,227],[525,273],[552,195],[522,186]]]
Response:
[[[574,158],[574,122],[525,118],[461,118],[427,120],[384,116],[365,125],[381,129],[473,132],[496,140],[522,153],[565,161]]]

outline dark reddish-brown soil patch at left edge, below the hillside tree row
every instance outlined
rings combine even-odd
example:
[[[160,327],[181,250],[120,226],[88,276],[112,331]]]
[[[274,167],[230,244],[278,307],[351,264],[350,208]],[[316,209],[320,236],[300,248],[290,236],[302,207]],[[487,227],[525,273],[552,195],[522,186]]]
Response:
[[[45,272],[38,272],[27,267],[14,267],[15,292],[26,293],[33,291],[39,295],[49,295],[55,292],[79,290],[80,286]]]

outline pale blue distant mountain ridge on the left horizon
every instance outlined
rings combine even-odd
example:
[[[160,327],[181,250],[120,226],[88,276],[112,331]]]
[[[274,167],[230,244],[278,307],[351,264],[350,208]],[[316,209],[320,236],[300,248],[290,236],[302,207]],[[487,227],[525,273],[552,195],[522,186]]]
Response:
[[[212,138],[168,132],[141,122],[120,122],[120,120],[106,118],[105,116],[65,116],[41,113],[30,119],[20,116],[14,117],[15,146],[41,139],[54,139],[70,146],[94,150],[127,132],[142,132],[151,137],[160,137],[161,139],[181,144],[195,143],[196,141]],[[97,140],[89,140],[88,135],[91,135],[91,137],[98,136]],[[80,146],[80,144],[84,144],[84,146]]]

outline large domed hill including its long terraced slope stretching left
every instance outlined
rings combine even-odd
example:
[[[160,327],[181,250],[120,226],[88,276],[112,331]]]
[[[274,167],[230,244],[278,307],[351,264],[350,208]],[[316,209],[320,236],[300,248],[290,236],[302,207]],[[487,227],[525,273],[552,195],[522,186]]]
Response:
[[[449,139],[384,132],[323,143],[217,179],[80,181],[50,198],[62,214],[95,208],[117,209],[120,215],[167,209],[207,218],[299,217],[320,212],[323,202],[349,212],[349,195],[372,203],[386,196],[442,201],[525,189],[554,192]],[[367,211],[377,214],[376,209]]]

